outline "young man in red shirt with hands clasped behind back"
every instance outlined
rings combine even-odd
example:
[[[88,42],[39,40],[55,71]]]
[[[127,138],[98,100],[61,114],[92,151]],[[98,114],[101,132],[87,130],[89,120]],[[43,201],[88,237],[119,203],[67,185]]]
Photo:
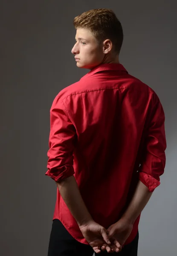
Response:
[[[46,175],[58,188],[48,256],[136,256],[140,214],[165,167],[163,108],[119,63],[123,32],[111,10],[74,25],[76,65],[90,72],[50,110]]]

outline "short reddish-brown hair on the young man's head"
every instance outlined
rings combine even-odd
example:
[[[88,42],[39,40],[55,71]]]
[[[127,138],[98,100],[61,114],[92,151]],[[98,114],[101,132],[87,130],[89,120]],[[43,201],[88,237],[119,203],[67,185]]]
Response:
[[[75,29],[89,29],[99,43],[110,39],[119,54],[123,42],[123,29],[115,13],[110,9],[93,9],[74,18]]]

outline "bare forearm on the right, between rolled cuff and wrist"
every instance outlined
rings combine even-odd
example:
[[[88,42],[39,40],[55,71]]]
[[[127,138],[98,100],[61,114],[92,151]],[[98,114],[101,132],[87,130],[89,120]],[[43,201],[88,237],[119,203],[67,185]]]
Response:
[[[122,219],[133,224],[148,203],[151,195],[152,192],[149,192],[148,187],[139,180],[131,203],[123,214]]]

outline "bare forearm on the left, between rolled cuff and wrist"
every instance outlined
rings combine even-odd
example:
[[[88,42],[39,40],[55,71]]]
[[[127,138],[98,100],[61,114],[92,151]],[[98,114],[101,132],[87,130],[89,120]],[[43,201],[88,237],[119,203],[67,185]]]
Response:
[[[61,197],[70,209],[78,225],[81,226],[89,221],[93,221],[81,197],[75,177],[71,176],[56,183]]]

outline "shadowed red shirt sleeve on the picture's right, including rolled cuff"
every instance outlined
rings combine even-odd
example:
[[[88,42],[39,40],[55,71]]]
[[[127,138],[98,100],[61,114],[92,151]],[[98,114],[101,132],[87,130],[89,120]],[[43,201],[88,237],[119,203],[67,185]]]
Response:
[[[160,175],[165,169],[165,114],[157,95],[151,112],[150,125],[145,139],[145,151],[139,170],[139,180],[150,192],[160,185]]]

